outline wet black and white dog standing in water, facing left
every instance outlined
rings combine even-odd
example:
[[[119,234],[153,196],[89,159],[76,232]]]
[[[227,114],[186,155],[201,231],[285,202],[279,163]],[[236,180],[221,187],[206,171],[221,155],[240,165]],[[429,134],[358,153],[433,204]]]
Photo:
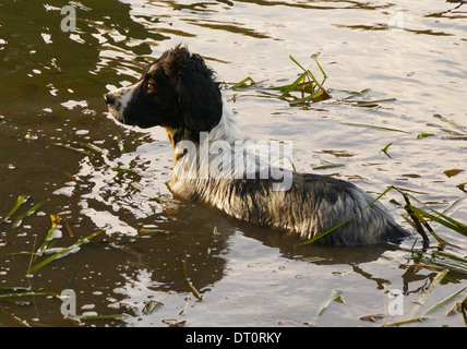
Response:
[[[278,183],[271,161],[255,155],[240,156],[237,161],[239,154],[250,153],[246,146],[235,148],[244,139],[223,97],[221,84],[203,58],[184,46],[165,51],[144,68],[135,84],[104,98],[110,115],[123,124],[166,129],[173,148],[168,186],[176,196],[209,204],[238,219],[277,227],[301,240],[347,220],[318,239],[321,244],[375,244],[409,236],[380,202],[350,182],[285,170],[284,178],[289,180]],[[214,144],[216,151],[203,152]],[[219,166],[224,176],[218,176]]]

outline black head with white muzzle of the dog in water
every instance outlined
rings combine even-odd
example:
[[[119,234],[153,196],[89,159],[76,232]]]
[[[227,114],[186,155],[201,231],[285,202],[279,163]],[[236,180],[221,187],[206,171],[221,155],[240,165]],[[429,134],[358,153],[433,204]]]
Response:
[[[199,55],[184,47],[167,50],[147,64],[137,83],[105,95],[118,121],[152,128],[169,128],[180,139],[199,140],[219,121],[223,101],[214,72]]]

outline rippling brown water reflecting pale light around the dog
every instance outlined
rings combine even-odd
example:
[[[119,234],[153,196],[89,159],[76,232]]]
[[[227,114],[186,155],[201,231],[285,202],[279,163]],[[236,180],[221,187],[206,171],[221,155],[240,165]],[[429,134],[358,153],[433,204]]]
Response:
[[[65,4],[0,4],[0,216],[27,195],[0,226],[2,293],[11,287],[72,289],[79,315],[128,314],[82,321],[95,326],[380,326],[410,313],[438,270],[381,246],[300,246],[278,231],[178,201],[166,186],[171,146],[165,131],[117,124],[101,96],[134,82],[146,62],[180,43],[226,83],[250,76],[262,86],[301,73],[290,55],[321,76],[310,59],[320,53],[332,99],[291,107],[254,88],[226,91],[242,130],[256,140],[292,141],[300,171],[338,164],[314,171],[373,194],[397,185],[436,210],[460,200],[450,213],[465,222],[465,5],[81,1],[73,2],[76,29],[63,32]],[[358,104],[372,100],[383,101]],[[394,203],[403,197],[391,191],[382,201],[408,227]],[[14,228],[36,203],[43,205]],[[51,214],[60,217],[55,248],[104,232],[26,277],[29,252],[43,243]],[[465,238],[433,227],[460,248],[448,251],[465,255]],[[403,246],[414,243],[420,246],[415,239]],[[448,273],[422,311],[466,285],[465,275]],[[316,316],[337,289],[345,303],[333,302]],[[387,313],[392,289],[403,291],[405,316]],[[0,324],[72,325],[60,299],[22,300],[0,303]],[[163,305],[145,314],[151,302]],[[464,326],[462,314],[445,315],[453,304],[423,325]],[[360,320],[379,313],[385,317]]]

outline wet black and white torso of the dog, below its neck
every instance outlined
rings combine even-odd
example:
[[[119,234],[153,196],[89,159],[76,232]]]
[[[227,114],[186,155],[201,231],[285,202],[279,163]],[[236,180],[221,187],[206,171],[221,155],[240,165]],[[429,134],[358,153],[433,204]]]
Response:
[[[208,203],[239,219],[274,226],[311,239],[347,220],[316,242],[356,245],[397,241],[409,233],[386,208],[350,182],[311,173],[291,173],[286,191],[274,180],[184,179],[171,190],[188,200]]]

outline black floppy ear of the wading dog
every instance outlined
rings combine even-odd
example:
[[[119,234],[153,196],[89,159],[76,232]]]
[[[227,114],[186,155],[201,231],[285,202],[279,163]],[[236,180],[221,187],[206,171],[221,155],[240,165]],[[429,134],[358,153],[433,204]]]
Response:
[[[171,56],[171,77],[180,104],[180,118],[195,141],[220,121],[223,103],[213,71],[199,55],[177,47]]]

